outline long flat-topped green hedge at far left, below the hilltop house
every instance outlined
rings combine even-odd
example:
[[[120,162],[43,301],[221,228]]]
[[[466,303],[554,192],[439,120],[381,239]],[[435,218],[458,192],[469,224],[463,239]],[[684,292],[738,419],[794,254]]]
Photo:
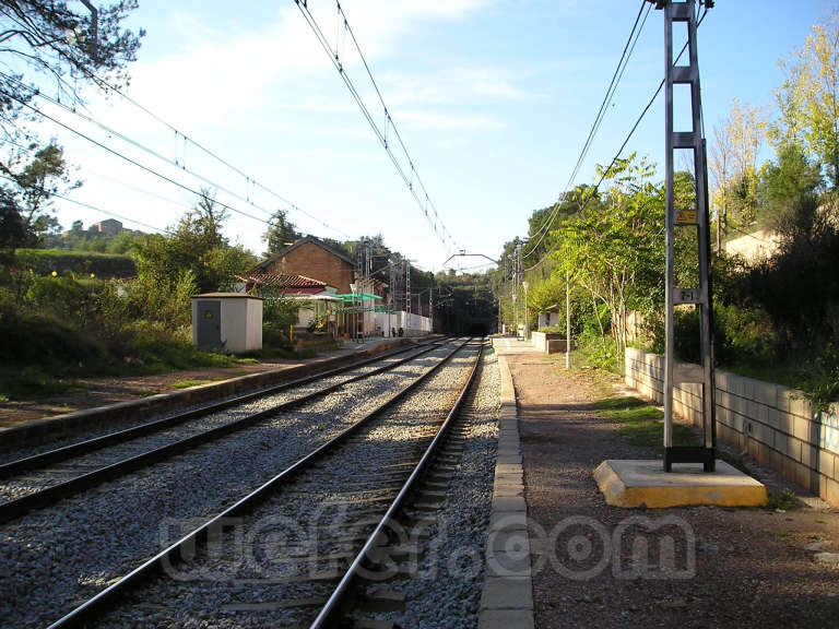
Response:
[[[130,256],[96,253],[93,251],[67,251],[63,249],[17,249],[15,262],[19,268],[36,275],[59,275],[70,272],[79,276],[131,277],[137,266]]]

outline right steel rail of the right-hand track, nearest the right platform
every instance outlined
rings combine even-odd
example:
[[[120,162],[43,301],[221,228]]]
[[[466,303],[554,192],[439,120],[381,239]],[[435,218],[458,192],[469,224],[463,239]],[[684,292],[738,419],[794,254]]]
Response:
[[[477,373],[478,366],[481,365],[483,352],[484,343],[481,344],[481,349],[477,354],[477,358],[475,359],[475,364],[472,367],[472,371],[469,375],[469,380],[466,380],[466,383],[463,385],[463,390],[460,392],[457,402],[454,402],[451,411],[449,411],[449,414],[446,416],[446,419],[440,426],[440,429],[437,431],[437,435],[435,435],[434,439],[428,444],[425,453],[420,459],[413,472],[411,472],[407,480],[405,480],[404,485],[400,489],[397,497],[393,499],[393,502],[388,508],[388,511],[385,513],[379,524],[376,526],[373,533],[370,533],[364,547],[358,551],[355,559],[350,565],[350,568],[341,579],[341,582],[335,586],[326,605],[321,607],[320,613],[309,626],[309,629],[326,629],[327,627],[335,627],[341,621],[341,618],[343,614],[345,614],[350,604],[348,597],[355,591],[355,585],[359,579],[359,572],[369,562],[368,558],[371,555],[371,551],[374,551],[374,549],[379,545],[379,541],[382,539],[386,535],[386,527],[389,526],[390,522],[395,519],[397,511],[399,511],[399,509],[402,507],[405,499],[416,485],[416,482],[424,475],[426,467],[434,460],[437,451],[444,443],[444,440],[449,432],[449,428],[454,423],[454,418],[460,413],[460,410],[463,406],[463,401],[465,400],[466,394],[475,380],[475,375]]]

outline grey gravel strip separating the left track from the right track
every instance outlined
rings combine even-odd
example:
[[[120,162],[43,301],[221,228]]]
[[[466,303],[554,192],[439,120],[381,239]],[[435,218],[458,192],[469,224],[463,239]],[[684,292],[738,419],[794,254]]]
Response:
[[[356,420],[447,349],[0,529],[0,627],[43,627]]]

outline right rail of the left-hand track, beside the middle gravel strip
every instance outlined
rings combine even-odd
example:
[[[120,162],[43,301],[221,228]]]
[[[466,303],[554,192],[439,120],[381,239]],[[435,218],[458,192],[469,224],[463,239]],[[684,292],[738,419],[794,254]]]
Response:
[[[438,345],[432,344],[429,347],[422,349],[420,353],[413,354],[412,356],[397,360],[391,365],[386,365],[373,371],[368,371],[367,373],[353,376],[347,380],[343,380],[342,382],[338,382],[335,384],[330,384],[329,387],[326,387],[312,393],[307,393],[306,395],[303,395],[300,397],[296,397],[294,400],[283,402],[275,406],[272,406],[271,408],[260,411],[258,413],[248,415],[240,419],[235,419],[227,424],[216,426],[215,428],[210,428],[209,430],[197,432],[196,435],[191,435],[190,437],[186,437],[184,439],[173,441],[170,443],[167,443],[166,446],[162,446],[159,448],[155,448],[153,450],[149,450],[140,454],[135,454],[134,456],[123,459],[122,461],[117,461],[116,463],[111,463],[110,465],[105,465],[103,467],[99,467],[92,472],[87,472],[86,474],[82,474],[81,476],[76,476],[69,480],[64,480],[62,483],[58,483],[49,487],[45,487],[44,489],[34,491],[32,494],[27,494],[26,496],[21,496],[20,498],[15,498],[14,500],[9,500],[8,502],[0,503],[0,524],[4,524],[11,520],[14,520],[15,518],[20,518],[21,515],[28,513],[33,509],[47,507],[63,498],[68,498],[70,496],[73,496],[75,494],[90,489],[91,487],[95,487],[96,485],[99,485],[107,480],[113,480],[115,478],[123,476],[135,470],[146,467],[153,463],[163,461],[164,459],[168,459],[176,454],[186,452],[187,450],[191,450],[192,448],[197,448],[198,446],[202,446],[215,439],[225,437],[232,432],[237,432],[239,430],[244,430],[245,428],[249,428],[255,424],[262,422],[263,419],[268,419],[269,417],[275,415],[276,413],[281,413],[283,411],[294,408],[295,406],[299,406],[302,404],[305,404],[318,397],[328,395],[329,393],[342,387],[345,387],[346,384],[351,384],[358,380],[370,378],[383,371],[394,369],[401,365],[404,365],[405,363],[410,363],[411,360],[418,358],[420,356],[428,354],[429,352],[434,351],[437,347]]]

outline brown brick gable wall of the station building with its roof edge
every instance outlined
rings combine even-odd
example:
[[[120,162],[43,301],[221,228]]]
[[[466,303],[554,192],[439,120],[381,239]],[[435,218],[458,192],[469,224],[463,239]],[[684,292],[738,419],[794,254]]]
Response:
[[[257,264],[251,274],[303,275],[346,294],[352,293],[350,284],[355,280],[355,271],[352,258],[314,236],[307,236]]]

